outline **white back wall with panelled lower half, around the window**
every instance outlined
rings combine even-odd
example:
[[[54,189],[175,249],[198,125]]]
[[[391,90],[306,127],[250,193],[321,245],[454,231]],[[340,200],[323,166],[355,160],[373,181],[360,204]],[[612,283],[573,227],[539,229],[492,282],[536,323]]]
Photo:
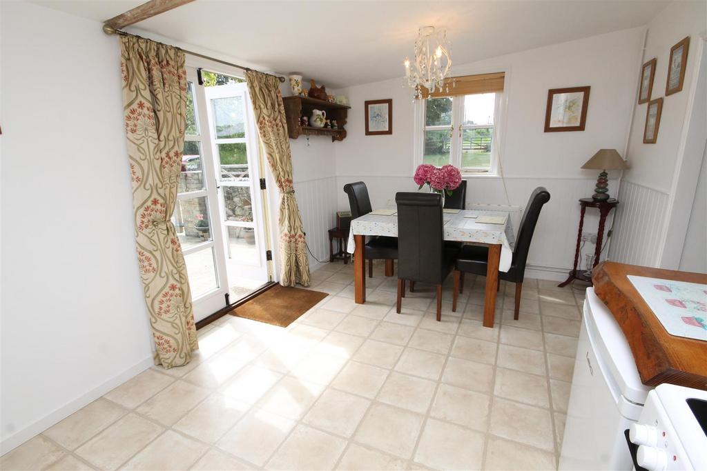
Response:
[[[546,186],[551,200],[541,215],[529,257],[529,264],[542,268],[545,278],[566,277],[573,261],[577,200],[591,196],[597,176],[580,167],[600,148],[624,153],[642,40],[643,28],[633,28],[453,68],[452,75],[506,71],[508,105],[499,129],[508,199],[500,178],[471,177],[467,200],[525,205],[535,186]],[[544,133],[547,90],[581,85],[591,86],[585,131]],[[349,95],[352,109],[348,136],[337,148],[339,208],[348,205],[341,190],[348,181],[366,181],[374,205],[387,203],[395,191],[416,189],[411,179],[414,105],[402,78],[351,87],[343,93]],[[365,136],[363,102],[382,98],[393,99],[393,134]],[[618,175],[610,177],[609,193],[615,194]],[[596,232],[596,227],[597,218],[589,210],[585,232]]]

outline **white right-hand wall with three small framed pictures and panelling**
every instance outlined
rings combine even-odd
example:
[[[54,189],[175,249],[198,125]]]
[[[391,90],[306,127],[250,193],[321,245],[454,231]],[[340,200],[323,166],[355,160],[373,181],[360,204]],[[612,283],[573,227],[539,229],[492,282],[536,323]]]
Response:
[[[634,105],[628,151],[631,169],[624,173],[621,181],[621,205],[610,251],[616,261],[678,268],[686,229],[686,220],[681,219],[690,212],[703,152],[703,145],[685,151],[684,143],[693,112],[693,89],[701,52],[700,36],[705,34],[706,5],[703,1],[674,1],[648,23],[642,62],[658,59],[651,98],[664,97],[662,116],[657,143],[644,144],[648,104]],[[686,36],[690,36],[690,47],[682,91],[665,97],[670,48]],[[704,90],[701,93],[704,94]],[[701,105],[704,122],[704,104]],[[682,167],[684,163],[687,167]],[[679,181],[681,172],[690,180],[689,184]],[[689,197],[680,197],[680,186],[691,186]],[[674,229],[679,229],[681,234],[669,234]],[[670,257],[664,258],[664,255]]]

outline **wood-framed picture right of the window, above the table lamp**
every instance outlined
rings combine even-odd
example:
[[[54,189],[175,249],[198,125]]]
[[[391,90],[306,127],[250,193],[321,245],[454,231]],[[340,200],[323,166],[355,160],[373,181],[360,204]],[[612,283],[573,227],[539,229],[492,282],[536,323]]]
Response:
[[[590,87],[553,88],[547,92],[545,132],[584,131]]]

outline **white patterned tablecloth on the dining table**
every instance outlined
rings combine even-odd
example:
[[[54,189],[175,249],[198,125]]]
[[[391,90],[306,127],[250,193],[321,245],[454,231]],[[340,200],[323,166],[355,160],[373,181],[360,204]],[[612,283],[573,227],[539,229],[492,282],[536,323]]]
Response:
[[[395,208],[392,206],[390,208]],[[475,218],[466,216],[506,216],[506,224],[479,224]],[[479,244],[501,244],[501,263],[498,270],[508,271],[513,260],[513,227],[510,213],[503,211],[462,210],[459,213],[444,214],[444,239],[456,242],[477,242]],[[397,237],[397,214],[392,216],[367,214],[351,221],[347,250],[356,250],[354,235],[382,235]]]

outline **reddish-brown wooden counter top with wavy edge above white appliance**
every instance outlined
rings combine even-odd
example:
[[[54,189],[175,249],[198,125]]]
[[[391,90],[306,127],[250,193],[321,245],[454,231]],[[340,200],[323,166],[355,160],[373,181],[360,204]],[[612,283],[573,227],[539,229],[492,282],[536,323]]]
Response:
[[[667,333],[627,275],[700,284],[707,284],[707,275],[615,262],[602,262],[592,273],[597,296],[629,341],[641,381],[707,390],[707,342]]]

